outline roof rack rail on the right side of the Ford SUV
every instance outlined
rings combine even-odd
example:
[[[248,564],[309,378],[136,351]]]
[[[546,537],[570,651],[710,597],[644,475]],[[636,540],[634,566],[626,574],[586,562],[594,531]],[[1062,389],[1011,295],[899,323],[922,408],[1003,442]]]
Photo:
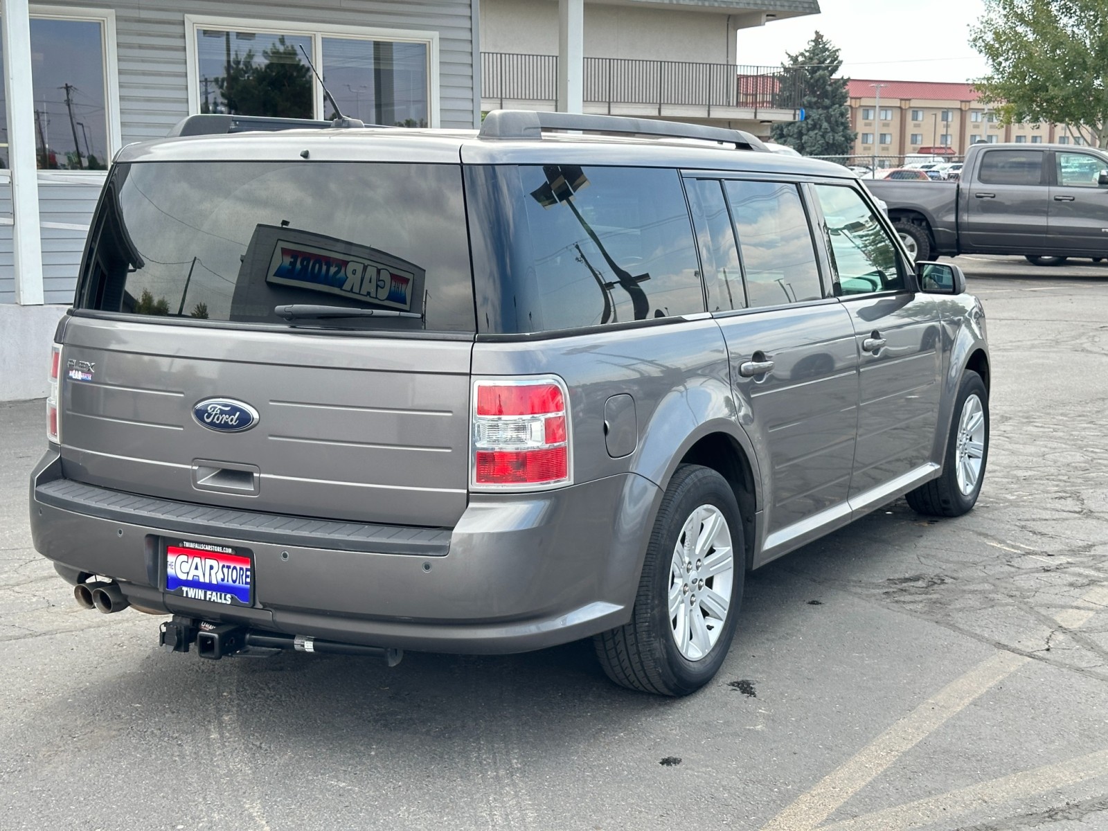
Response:
[[[654,119],[629,119],[622,115],[551,113],[534,110],[493,110],[481,124],[481,138],[541,140],[544,130],[574,130],[593,133],[627,133],[666,138],[699,138],[733,144],[738,150],[769,148],[742,130],[709,127]]]

